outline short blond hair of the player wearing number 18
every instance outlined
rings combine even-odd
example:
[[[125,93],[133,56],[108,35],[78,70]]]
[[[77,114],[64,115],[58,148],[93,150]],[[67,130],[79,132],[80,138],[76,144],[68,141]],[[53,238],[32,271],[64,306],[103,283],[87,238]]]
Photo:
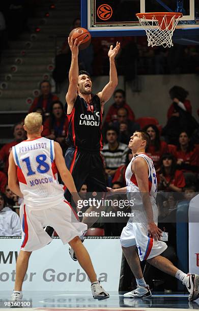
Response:
[[[42,126],[42,115],[38,112],[31,112],[24,119],[24,126],[28,134],[37,134]]]

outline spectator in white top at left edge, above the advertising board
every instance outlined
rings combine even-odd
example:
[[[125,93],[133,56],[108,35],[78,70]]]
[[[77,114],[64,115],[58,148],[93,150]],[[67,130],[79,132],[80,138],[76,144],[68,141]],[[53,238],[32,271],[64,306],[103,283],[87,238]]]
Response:
[[[20,236],[21,224],[17,213],[6,205],[5,196],[0,192],[0,236]]]

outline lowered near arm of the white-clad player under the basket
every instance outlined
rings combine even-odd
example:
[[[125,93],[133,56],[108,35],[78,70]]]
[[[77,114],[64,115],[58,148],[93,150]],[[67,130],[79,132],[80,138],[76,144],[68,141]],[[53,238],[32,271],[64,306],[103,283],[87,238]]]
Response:
[[[156,226],[153,219],[153,208],[149,195],[149,173],[147,162],[143,158],[138,157],[133,161],[131,170],[135,174],[138,188],[143,199],[143,205],[148,221],[148,231],[154,239],[160,240],[162,231]]]

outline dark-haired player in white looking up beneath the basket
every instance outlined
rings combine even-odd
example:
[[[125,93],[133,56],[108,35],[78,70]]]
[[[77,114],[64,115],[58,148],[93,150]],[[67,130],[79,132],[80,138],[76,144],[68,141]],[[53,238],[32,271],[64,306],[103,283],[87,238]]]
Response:
[[[189,291],[189,301],[199,298],[199,275],[186,274],[173,265],[168,259],[160,256],[166,249],[166,243],[160,241],[162,231],[157,227],[158,208],[155,203],[157,180],[153,161],[145,153],[150,143],[147,132],[136,131],[130,138],[129,148],[133,158],[126,170],[127,186],[113,190],[107,188],[109,195],[127,192],[127,198],[134,198],[134,217],[129,219],[121,234],[121,245],[124,256],[136,278],[137,288],[124,294],[125,298],[148,298],[151,291],[145,282],[139,259],[147,260],[154,267],[175,276]],[[131,204],[132,205],[132,204]],[[136,252],[138,250],[138,255]]]

